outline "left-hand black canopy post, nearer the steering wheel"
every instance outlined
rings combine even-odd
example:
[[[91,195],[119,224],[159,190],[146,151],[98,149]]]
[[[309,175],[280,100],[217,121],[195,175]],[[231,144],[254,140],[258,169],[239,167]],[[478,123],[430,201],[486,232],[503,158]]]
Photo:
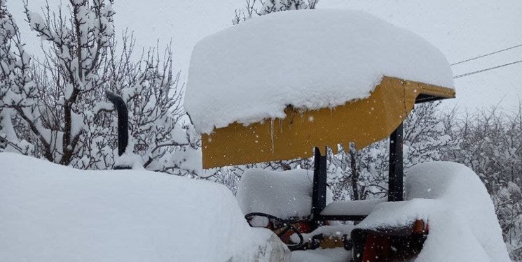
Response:
[[[312,217],[317,221],[327,206],[327,149],[324,156],[318,147],[314,148],[314,182],[312,187]]]

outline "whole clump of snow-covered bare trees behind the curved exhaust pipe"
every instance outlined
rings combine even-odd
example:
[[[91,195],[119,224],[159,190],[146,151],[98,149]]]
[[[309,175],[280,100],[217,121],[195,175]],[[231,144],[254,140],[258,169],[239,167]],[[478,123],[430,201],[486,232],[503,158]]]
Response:
[[[47,5],[43,15],[26,5],[29,25],[43,41],[33,62],[6,0],[0,3],[2,147],[76,168],[111,168],[116,116],[104,96],[111,90],[128,105],[130,141],[142,166],[196,175],[197,167],[180,170],[198,138],[184,116],[170,45],[135,57],[132,35],[116,41],[113,1],[71,1],[57,13]]]

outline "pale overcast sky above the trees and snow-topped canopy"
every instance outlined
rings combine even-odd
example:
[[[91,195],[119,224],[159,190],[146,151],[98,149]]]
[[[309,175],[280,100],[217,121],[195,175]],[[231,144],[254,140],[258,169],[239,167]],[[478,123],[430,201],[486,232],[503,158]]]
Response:
[[[39,40],[22,24],[22,0],[9,0],[8,8],[22,27],[27,48],[38,52]],[[52,6],[60,0],[49,0]],[[62,0],[63,3],[68,1]],[[29,0],[38,10],[45,0]],[[231,26],[235,8],[244,0],[116,0],[116,29],[135,31],[140,46],[167,43],[172,38],[174,58],[184,72],[193,45],[215,31]],[[410,29],[441,49],[448,61],[522,44],[520,0],[320,0],[317,8],[366,10],[399,27]],[[522,48],[453,67],[454,75],[522,60]],[[515,108],[522,99],[522,64],[507,66],[455,80],[458,99],[445,101],[461,108],[502,105]]]

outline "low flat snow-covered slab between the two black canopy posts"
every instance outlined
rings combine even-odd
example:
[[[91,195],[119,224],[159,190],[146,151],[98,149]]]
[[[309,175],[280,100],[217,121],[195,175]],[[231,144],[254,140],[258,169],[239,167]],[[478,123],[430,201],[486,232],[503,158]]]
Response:
[[[329,203],[321,212],[322,220],[361,221],[370,214],[371,210],[387,201],[386,198],[359,200],[359,201],[334,201]]]

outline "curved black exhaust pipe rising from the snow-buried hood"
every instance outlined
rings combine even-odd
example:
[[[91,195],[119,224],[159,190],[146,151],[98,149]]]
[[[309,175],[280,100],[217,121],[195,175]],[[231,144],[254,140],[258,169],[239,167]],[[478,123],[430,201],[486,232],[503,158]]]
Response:
[[[114,104],[114,108],[118,111],[118,157],[121,157],[129,143],[129,110],[121,96],[110,91],[106,91],[105,96]],[[130,168],[130,166],[114,166],[114,169]]]

